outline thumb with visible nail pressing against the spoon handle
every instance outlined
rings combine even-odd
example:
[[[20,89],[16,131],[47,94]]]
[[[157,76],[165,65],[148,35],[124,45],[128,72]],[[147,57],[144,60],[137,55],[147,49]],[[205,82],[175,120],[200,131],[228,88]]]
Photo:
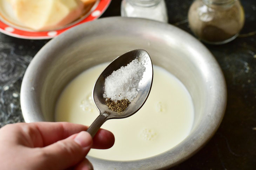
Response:
[[[83,160],[92,147],[92,136],[85,131],[42,148],[47,169],[66,169]]]

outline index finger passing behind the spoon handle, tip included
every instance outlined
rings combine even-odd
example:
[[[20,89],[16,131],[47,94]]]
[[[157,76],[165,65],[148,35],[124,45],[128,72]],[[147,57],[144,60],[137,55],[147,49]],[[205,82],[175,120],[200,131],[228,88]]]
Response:
[[[18,140],[19,144],[28,147],[45,147],[59,140],[66,139],[70,135],[87,130],[87,126],[68,122],[35,122],[15,123],[1,128],[1,131],[3,130],[7,132],[11,130],[11,136],[13,138],[20,136]],[[93,141],[93,148],[108,149],[113,146],[115,137],[108,130],[99,129]]]

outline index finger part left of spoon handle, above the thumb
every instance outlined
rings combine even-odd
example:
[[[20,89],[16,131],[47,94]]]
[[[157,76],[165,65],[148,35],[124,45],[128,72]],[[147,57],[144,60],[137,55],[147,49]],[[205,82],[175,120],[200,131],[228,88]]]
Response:
[[[68,122],[14,123],[0,129],[9,141],[27,147],[44,147],[87,130],[87,126]],[[9,133],[11,132],[11,133]]]

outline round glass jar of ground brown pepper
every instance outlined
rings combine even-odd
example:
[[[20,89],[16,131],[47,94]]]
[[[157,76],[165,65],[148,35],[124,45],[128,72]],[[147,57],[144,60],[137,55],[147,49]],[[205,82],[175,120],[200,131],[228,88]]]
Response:
[[[234,40],[243,28],[244,10],[239,0],[195,0],[188,21],[203,42],[224,44]]]

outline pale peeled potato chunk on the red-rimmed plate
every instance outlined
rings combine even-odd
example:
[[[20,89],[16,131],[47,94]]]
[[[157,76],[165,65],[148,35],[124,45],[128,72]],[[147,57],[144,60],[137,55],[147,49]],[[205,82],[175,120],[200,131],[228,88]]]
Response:
[[[34,30],[54,29],[77,19],[83,12],[80,0],[8,0],[17,19]]]

